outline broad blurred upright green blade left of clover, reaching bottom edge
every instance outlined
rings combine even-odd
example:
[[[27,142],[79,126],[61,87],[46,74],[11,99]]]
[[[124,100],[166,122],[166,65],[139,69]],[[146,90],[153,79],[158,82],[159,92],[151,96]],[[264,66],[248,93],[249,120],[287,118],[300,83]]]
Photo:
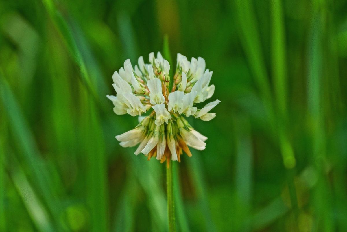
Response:
[[[91,214],[91,231],[108,231],[107,167],[104,138],[94,101],[81,91],[81,153],[86,155],[86,195]]]

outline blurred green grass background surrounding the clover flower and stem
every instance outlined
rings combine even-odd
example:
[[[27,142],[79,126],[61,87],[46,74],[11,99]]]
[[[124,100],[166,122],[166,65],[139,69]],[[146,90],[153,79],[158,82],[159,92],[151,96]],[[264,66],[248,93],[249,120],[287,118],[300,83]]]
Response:
[[[165,165],[121,148],[125,59],[201,56],[178,231],[347,231],[346,0],[1,0],[0,231],[167,231]],[[168,57],[165,57],[167,58]],[[172,64],[172,66],[175,64]]]

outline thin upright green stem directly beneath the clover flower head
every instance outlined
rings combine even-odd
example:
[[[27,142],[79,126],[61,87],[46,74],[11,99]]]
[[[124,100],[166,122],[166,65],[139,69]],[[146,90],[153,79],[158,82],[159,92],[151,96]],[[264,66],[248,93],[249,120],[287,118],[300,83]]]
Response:
[[[166,168],[166,190],[168,194],[169,232],[176,232],[174,194],[172,192],[172,164]]]

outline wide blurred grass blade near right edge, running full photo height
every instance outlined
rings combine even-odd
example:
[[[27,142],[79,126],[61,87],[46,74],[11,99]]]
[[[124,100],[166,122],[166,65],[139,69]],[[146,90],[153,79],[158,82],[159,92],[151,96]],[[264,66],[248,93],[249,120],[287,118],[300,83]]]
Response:
[[[331,192],[323,166],[326,158],[326,134],[324,130],[325,112],[321,107],[323,102],[323,28],[325,27],[324,1],[313,1],[313,18],[310,31],[308,56],[308,114],[312,122],[312,158],[319,175],[319,182],[313,191],[313,204],[316,208],[315,228],[324,231],[335,231],[332,215]]]

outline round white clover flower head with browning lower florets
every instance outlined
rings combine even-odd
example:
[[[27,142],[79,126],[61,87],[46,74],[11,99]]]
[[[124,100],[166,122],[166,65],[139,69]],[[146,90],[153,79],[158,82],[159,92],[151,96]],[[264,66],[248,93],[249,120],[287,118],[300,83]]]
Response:
[[[212,97],[214,85],[210,85],[212,71],[206,68],[205,60],[187,57],[177,53],[176,71],[170,78],[170,64],[161,53],[149,55],[149,63],[143,57],[132,66],[130,59],[124,62],[118,72],[113,73],[113,88],[116,96],[109,96],[113,111],[117,115],[139,116],[135,129],[117,135],[122,147],[134,147],[139,144],[135,155],[140,153],[148,160],[156,156],[163,163],[178,160],[183,151],[191,157],[188,148],[203,150],[207,137],[195,131],[186,117],[193,115],[202,121],[210,121],[216,115],[209,113],[218,103],[215,100],[197,109],[200,103]],[[150,111],[147,114],[147,111]],[[141,116],[145,114],[145,116]]]

